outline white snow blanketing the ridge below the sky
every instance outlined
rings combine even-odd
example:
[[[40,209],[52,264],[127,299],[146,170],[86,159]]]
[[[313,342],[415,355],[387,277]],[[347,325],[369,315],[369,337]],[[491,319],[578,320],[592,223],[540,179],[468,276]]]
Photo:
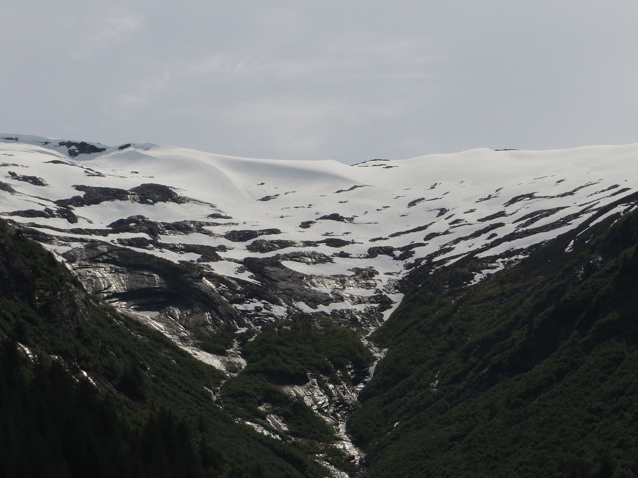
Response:
[[[45,144],[47,141],[49,143]],[[228,250],[219,255],[226,260],[199,264],[214,273],[251,282],[256,279],[241,269],[245,257],[268,257],[295,251],[316,251],[327,256],[346,254],[350,257],[333,257],[333,262],[327,264],[307,264],[285,260],[285,257],[282,260],[286,267],[311,276],[311,284],[318,290],[338,288],[346,294],[359,296],[369,296],[375,289],[394,294],[393,284],[404,276],[406,267],[416,259],[438,252],[441,247],[451,250],[436,260],[454,261],[479,247],[485,248],[479,257],[489,257],[549,240],[631,194],[638,186],[638,161],[635,160],[638,144],[549,151],[480,148],[403,161],[369,161],[355,166],[336,161],[247,159],[136,143],[122,150],[106,147],[104,152],[71,158],[67,148],[58,145],[59,140],[37,136],[19,135],[19,141],[0,139],[0,154],[3,155],[0,156],[0,180],[16,191],[0,190],[0,214],[56,235],[59,240],[48,247],[57,253],[80,245],[72,238],[115,241],[142,236],[148,239],[149,236],[143,233],[111,233],[101,237],[73,231],[77,228],[107,229],[111,222],[132,215],[158,222],[215,222],[221,225],[204,228],[211,235],[170,234],[160,236],[159,241],[223,245]],[[68,164],[47,163],[52,160]],[[88,168],[103,176],[89,175],[93,173]],[[9,171],[41,177],[47,186],[16,180]],[[84,194],[74,185],[128,190],[148,182],[168,185],[190,200],[182,204],[152,205],[108,201],[75,207],[76,224],[59,217],[10,215],[13,211],[44,210],[45,207],[55,211],[59,207],[54,203],[57,199]],[[623,188],[628,191],[619,193]],[[552,212],[554,208],[560,210]],[[625,206],[618,206],[608,215],[621,212],[623,208]],[[232,219],[212,219],[211,214]],[[331,214],[338,214],[341,221],[320,219]],[[525,215],[530,216],[524,218]],[[559,228],[543,229],[568,215],[575,216]],[[530,221],[530,218],[537,221]],[[597,221],[602,219],[604,217]],[[304,222],[308,224],[307,221],[315,223],[308,228],[300,227]],[[526,221],[531,224],[523,228]],[[505,225],[480,235],[477,233],[501,222]],[[313,242],[338,238],[349,243],[343,247],[329,247],[324,243],[316,247],[286,247],[260,254],[246,250],[252,240],[232,242],[223,237],[231,230],[273,228],[281,233],[258,238]],[[420,230],[407,232],[411,229]],[[520,231],[530,231],[530,235],[498,243],[500,238]],[[491,247],[492,243],[494,247]],[[397,260],[401,254],[399,250],[391,256],[368,255],[371,247],[399,248],[411,244],[417,247],[406,254],[413,255],[402,260]],[[197,261],[200,257],[158,247],[140,250],[171,261]],[[500,264],[496,266],[500,267]],[[345,286],[337,285],[338,276],[350,278],[352,268],[367,267],[378,272],[371,279],[376,282],[373,289],[349,284],[348,279]],[[238,307],[249,306],[252,307],[246,304]],[[340,306],[332,304],[322,310],[329,311],[334,307]],[[343,307],[352,306],[346,301]],[[304,306],[300,305],[300,308]]]

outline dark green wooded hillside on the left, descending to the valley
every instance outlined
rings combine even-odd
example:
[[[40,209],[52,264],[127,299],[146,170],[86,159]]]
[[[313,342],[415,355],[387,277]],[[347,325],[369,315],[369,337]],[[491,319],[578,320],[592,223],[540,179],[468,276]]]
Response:
[[[325,475],[308,445],[219,409],[220,372],[87,297],[3,222],[0,245],[0,476]]]

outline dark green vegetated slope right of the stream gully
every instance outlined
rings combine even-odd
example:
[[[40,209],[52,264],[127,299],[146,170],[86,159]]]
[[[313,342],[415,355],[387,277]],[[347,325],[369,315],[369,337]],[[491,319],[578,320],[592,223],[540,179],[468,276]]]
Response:
[[[348,421],[366,477],[638,475],[637,224],[567,266],[561,238],[477,286],[443,270],[406,294]]]

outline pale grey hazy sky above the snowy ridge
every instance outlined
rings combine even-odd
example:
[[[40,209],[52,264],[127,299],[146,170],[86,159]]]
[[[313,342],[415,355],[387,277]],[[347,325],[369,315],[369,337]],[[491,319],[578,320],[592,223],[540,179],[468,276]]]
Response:
[[[0,131],[269,159],[638,142],[635,0],[45,0]]]

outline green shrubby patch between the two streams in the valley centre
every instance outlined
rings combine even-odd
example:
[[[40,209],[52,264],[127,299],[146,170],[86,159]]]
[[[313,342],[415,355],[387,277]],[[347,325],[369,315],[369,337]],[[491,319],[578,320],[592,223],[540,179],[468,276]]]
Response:
[[[338,379],[360,380],[373,359],[352,330],[316,324],[307,317],[264,327],[244,345],[242,356],[246,368],[221,387],[225,409],[261,424],[269,414],[283,417],[288,435],[319,445],[333,442],[334,430],[281,386],[304,385],[309,377],[320,386]],[[335,465],[345,466],[332,447],[320,445],[320,451]]]

